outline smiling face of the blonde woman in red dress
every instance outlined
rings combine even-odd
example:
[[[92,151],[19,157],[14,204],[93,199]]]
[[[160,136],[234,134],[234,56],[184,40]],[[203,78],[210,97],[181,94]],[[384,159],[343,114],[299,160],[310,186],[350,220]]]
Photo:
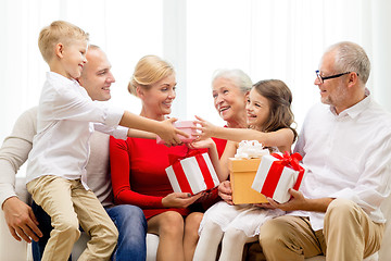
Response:
[[[150,116],[159,119],[172,112],[172,103],[176,97],[175,88],[175,74],[172,74],[151,85],[150,89],[142,90],[142,105]]]

